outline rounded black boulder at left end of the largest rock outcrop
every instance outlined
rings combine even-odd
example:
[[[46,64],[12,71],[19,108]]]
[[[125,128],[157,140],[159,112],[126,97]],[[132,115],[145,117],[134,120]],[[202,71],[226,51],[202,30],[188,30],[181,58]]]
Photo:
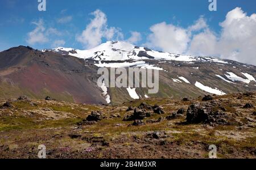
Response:
[[[199,104],[192,104],[188,107],[187,122],[190,124],[197,124],[204,122],[208,119],[208,113],[206,110],[200,107]]]

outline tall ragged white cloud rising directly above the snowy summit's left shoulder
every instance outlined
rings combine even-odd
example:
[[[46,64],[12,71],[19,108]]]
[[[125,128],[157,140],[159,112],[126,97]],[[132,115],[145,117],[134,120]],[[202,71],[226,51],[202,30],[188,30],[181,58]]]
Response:
[[[107,40],[123,39],[123,34],[119,28],[108,27],[106,15],[101,10],[92,12],[94,18],[90,21],[81,35],[76,37],[85,48],[93,48],[102,42],[102,38]]]

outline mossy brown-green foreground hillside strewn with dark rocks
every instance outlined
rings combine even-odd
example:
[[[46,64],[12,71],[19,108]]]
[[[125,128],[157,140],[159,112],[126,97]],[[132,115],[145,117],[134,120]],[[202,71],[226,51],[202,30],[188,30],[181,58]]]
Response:
[[[0,158],[256,158],[256,94],[118,106],[1,100]],[[203,114],[202,114],[203,113]],[[136,120],[136,121],[134,121]]]

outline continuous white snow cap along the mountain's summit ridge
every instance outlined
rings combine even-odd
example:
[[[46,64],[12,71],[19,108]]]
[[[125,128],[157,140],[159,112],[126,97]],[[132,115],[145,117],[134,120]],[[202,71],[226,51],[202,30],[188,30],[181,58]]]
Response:
[[[180,54],[164,53],[151,50],[144,47],[135,46],[123,41],[107,41],[96,48],[89,50],[79,50],[73,48],[55,48],[54,52],[60,54],[68,54],[70,56],[94,59],[96,61],[126,61],[126,60],[141,60],[141,59],[158,59],[158,60],[173,60],[184,62],[218,62],[226,63],[221,59],[214,57],[197,57],[186,56]],[[43,52],[46,50],[43,50]]]

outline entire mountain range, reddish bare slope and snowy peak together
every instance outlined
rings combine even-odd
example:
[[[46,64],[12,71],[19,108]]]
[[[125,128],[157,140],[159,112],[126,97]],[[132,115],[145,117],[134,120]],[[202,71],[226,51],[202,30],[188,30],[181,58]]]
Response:
[[[159,70],[159,92],[97,86],[98,67]],[[147,97],[198,97],[256,91],[256,66],[214,57],[185,56],[109,41],[89,50],[18,46],[0,53],[0,98],[27,95],[76,103],[112,103]],[[10,88],[11,87],[11,88]]]

